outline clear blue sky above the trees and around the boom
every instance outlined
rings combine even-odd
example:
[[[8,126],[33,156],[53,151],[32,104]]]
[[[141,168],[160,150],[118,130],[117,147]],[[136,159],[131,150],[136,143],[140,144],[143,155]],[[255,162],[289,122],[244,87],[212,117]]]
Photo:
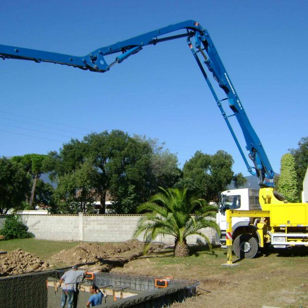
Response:
[[[305,0],[2,1],[0,44],[81,56],[196,20],[279,172],[281,156],[308,136],[307,12]],[[248,175],[185,38],[145,47],[101,74],[21,60],[1,60],[0,74],[0,156],[46,154],[121,129],[165,142],[181,166],[196,150],[223,149]]]

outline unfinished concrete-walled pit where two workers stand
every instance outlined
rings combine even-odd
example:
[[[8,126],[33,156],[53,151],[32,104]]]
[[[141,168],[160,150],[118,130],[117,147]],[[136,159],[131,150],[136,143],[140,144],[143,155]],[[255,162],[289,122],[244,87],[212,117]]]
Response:
[[[43,271],[0,278],[0,307],[60,307],[62,288],[57,287],[67,269]],[[175,280],[110,273],[92,273],[79,283],[74,308],[86,307],[89,286],[97,284],[107,295],[97,307],[161,308],[196,295],[197,281]],[[67,306],[67,305],[66,305]]]

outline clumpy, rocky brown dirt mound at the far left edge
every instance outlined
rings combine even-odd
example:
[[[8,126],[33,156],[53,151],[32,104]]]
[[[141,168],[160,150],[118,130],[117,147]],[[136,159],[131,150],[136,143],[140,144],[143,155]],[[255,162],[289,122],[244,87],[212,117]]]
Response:
[[[0,276],[44,271],[49,264],[22,249],[1,255]]]

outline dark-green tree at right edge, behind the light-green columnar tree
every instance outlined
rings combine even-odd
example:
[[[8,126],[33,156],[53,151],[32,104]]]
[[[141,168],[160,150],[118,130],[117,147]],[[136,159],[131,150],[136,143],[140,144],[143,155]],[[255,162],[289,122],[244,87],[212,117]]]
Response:
[[[297,149],[288,149],[295,160],[295,170],[297,174],[298,199],[303,189],[303,181],[308,167],[308,137],[303,137],[298,142]]]

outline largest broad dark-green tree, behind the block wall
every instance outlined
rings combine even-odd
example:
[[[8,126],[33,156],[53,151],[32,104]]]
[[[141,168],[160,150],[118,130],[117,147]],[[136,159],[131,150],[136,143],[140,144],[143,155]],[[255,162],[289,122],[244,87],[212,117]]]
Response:
[[[59,154],[50,153],[49,163],[54,165],[55,174],[61,179],[69,177],[69,173],[89,159],[97,172],[90,186],[100,198],[100,213],[105,213],[107,191],[117,213],[134,213],[136,206],[147,200],[155,189],[151,155],[148,142],[141,142],[121,130],[112,130],[88,134],[82,141],[71,140],[63,145]]]

